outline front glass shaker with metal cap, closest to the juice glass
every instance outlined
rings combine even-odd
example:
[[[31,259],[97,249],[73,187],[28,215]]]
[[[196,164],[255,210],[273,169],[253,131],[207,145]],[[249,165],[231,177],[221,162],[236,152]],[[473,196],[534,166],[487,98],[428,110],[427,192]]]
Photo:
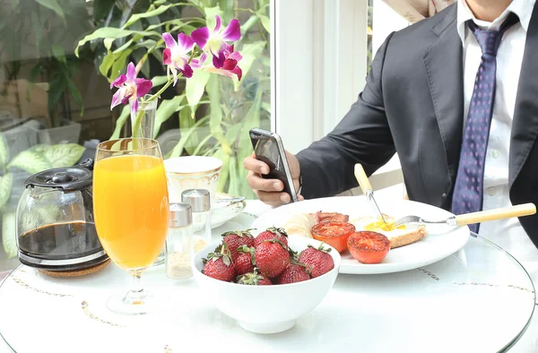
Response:
[[[193,217],[188,203],[170,203],[165,247],[166,275],[171,279],[192,277]]]

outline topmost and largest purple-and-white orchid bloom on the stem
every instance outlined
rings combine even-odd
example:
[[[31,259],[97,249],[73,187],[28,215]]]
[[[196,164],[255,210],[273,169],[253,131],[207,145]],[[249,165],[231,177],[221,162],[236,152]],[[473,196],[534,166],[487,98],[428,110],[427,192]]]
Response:
[[[220,69],[227,59],[224,53],[228,47],[226,41],[238,40],[241,37],[241,28],[239,21],[233,19],[228,24],[228,27],[221,30],[221,17],[215,15],[215,20],[216,25],[213,31],[204,27],[199,30],[194,30],[191,33],[191,36],[198,47],[204,50],[204,53],[211,53],[213,55],[213,65],[215,68]]]

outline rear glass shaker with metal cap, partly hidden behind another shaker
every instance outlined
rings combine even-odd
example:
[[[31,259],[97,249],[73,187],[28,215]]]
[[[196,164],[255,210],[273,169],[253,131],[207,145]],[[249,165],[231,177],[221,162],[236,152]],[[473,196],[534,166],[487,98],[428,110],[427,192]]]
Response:
[[[189,189],[181,193],[181,202],[191,205],[193,210],[194,253],[197,254],[211,242],[211,202],[209,191]]]

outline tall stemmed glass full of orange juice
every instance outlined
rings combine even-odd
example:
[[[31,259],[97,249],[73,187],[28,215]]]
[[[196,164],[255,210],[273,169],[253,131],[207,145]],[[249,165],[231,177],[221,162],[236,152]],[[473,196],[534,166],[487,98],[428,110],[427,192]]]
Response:
[[[121,314],[144,314],[152,297],[141,276],[159,256],[168,232],[169,196],[159,144],[134,138],[101,142],[93,168],[93,214],[108,257],[132,281],[108,299]]]

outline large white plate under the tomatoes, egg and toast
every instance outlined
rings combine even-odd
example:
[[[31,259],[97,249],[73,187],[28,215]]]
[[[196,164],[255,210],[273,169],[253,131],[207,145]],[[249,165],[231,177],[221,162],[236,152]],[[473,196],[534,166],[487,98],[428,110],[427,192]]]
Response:
[[[399,219],[407,215],[421,216],[426,220],[444,220],[452,214],[425,203],[406,200],[377,200],[383,213]],[[252,228],[283,227],[292,215],[316,211],[340,212],[350,220],[370,214],[368,201],[363,196],[341,196],[290,203],[261,215]],[[456,253],[467,243],[469,228],[428,226],[428,234],[416,243],[392,249],[382,263],[359,263],[346,251],[342,254],[340,273],[377,274],[408,271]]]

